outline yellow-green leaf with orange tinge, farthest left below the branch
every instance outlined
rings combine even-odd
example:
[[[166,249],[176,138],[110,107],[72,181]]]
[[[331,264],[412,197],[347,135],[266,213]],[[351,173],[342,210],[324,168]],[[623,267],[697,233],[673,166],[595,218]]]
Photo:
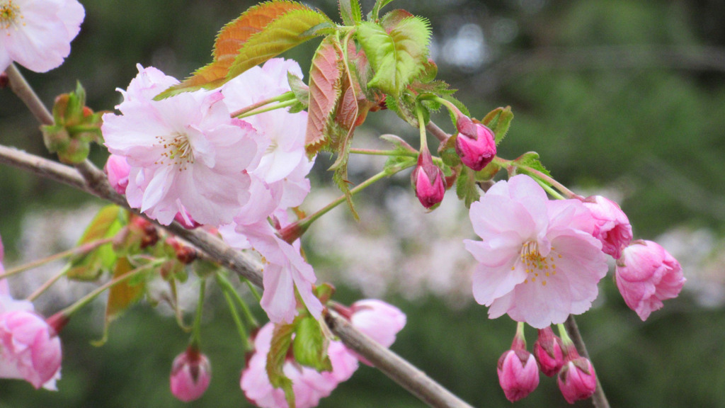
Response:
[[[117,205],[101,208],[91,224],[88,224],[77,245],[114,237],[126,224],[125,211]],[[73,280],[96,280],[102,272],[109,271],[116,262],[112,242],[101,245],[85,255],[72,256],[67,267],[67,277]]]

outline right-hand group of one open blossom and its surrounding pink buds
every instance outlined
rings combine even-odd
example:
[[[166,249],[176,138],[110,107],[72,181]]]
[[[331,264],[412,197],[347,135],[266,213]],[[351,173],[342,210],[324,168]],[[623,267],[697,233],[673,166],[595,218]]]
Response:
[[[587,311],[597,298],[597,284],[608,271],[605,255],[616,259],[617,287],[642,320],[675,298],[684,285],[682,269],[660,245],[632,242],[624,212],[604,197],[549,200],[526,175],[499,181],[471,205],[471,222],[481,241],[465,240],[478,261],[473,295],[489,306],[489,317],[508,314],[539,329],[535,346],[538,368],[559,373],[566,400],[588,398],[595,391],[591,362],[564,347],[550,325]],[[539,383],[534,356],[517,334],[498,364],[502,388],[511,401]]]

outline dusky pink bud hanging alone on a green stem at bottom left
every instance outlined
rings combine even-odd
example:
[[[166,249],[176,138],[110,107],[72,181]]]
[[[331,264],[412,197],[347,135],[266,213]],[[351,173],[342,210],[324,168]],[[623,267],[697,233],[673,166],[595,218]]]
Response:
[[[198,399],[212,379],[209,359],[193,346],[176,356],[171,365],[171,393],[184,402]]]

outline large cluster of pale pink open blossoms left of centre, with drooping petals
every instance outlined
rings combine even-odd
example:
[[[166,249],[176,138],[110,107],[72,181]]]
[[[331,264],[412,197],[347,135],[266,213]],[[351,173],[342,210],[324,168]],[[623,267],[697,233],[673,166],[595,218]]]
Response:
[[[289,91],[288,72],[302,76],[297,62],[273,59],[217,91],[156,101],[178,81],[139,65],[138,76],[121,91],[122,115],[104,115],[101,128],[112,153],[109,181],[131,207],[161,224],[176,219],[186,227],[217,227],[234,248],[261,254],[262,308],[273,322],[294,319],[295,287],[312,316],[322,311],[312,295],[315,273],[299,242],[277,233],[288,223],[287,209],[310,191],[307,113],[273,110],[241,121],[231,112]]]

